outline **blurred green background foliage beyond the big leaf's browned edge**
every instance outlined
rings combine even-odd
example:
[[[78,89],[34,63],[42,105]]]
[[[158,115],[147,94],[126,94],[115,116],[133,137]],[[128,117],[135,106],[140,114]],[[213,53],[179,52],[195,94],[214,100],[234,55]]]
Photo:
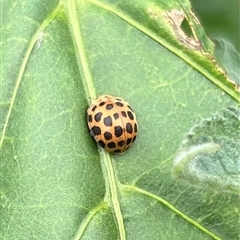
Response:
[[[216,43],[218,63],[240,85],[240,1],[229,4],[224,0],[191,0],[191,3],[208,36]]]

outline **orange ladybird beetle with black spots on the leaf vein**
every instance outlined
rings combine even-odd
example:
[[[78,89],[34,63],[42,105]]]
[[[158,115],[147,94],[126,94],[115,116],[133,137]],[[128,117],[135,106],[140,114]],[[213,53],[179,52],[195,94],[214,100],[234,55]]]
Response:
[[[103,95],[87,110],[90,134],[110,153],[124,153],[137,137],[135,113],[121,98]]]

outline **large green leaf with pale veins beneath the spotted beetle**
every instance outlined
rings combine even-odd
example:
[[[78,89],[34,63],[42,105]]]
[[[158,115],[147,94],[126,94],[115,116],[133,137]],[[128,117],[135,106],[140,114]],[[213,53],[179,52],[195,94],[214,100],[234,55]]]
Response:
[[[184,16],[195,21],[188,1],[185,15],[174,0],[1,5],[3,239],[237,239],[235,194],[171,174],[188,129],[240,101],[212,48],[181,31]],[[137,114],[123,156],[89,134],[86,110],[102,94]]]

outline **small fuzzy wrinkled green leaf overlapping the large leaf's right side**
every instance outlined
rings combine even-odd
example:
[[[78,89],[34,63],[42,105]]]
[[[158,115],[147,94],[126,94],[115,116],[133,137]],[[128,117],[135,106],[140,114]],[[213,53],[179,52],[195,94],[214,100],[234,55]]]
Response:
[[[190,184],[240,193],[240,108],[194,125],[176,156],[174,174]]]

